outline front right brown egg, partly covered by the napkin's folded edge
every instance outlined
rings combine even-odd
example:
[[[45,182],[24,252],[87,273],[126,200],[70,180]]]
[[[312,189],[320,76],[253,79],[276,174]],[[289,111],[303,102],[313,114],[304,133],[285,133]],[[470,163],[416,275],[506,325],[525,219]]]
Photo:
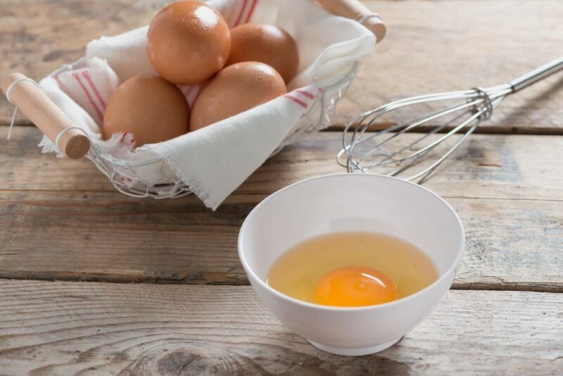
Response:
[[[247,61],[229,65],[201,91],[191,111],[198,130],[286,93],[284,79],[270,65]]]

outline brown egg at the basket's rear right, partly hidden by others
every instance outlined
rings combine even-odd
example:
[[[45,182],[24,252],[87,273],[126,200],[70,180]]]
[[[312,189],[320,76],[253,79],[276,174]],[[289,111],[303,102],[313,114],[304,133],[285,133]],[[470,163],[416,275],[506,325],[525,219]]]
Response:
[[[231,30],[231,55],[227,65],[260,61],[272,66],[287,83],[297,75],[299,52],[295,40],[274,25],[246,23]]]

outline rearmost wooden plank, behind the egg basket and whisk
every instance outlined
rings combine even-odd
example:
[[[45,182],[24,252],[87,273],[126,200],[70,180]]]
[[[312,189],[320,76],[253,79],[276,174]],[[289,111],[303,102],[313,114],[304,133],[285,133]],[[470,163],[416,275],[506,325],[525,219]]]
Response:
[[[25,6],[25,4],[33,6]],[[0,0],[0,74],[39,79],[83,56],[89,40],[145,25],[162,6],[143,1]],[[366,1],[389,27],[339,105],[336,124],[405,96],[501,84],[559,54],[559,0]],[[424,16],[422,16],[424,15]],[[525,53],[521,53],[525,51]],[[562,75],[517,94],[479,132],[563,133]],[[431,107],[424,106],[428,111]],[[0,99],[0,124],[12,106]],[[407,111],[379,126],[412,118]],[[19,123],[27,123],[21,115]]]

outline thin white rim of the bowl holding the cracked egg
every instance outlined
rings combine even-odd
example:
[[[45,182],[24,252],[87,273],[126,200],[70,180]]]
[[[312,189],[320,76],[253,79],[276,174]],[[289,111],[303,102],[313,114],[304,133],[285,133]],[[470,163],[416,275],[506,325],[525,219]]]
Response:
[[[434,282],[432,282],[431,284],[429,284],[428,286],[424,287],[424,289],[420,290],[419,292],[415,292],[415,294],[411,294],[409,296],[405,296],[403,298],[397,299],[395,301],[390,301],[387,303],[380,303],[380,304],[372,304],[370,306],[357,306],[357,307],[339,307],[339,306],[324,306],[322,304],[317,304],[317,303],[310,303],[308,301],[302,301],[296,298],[293,298],[289,295],[286,295],[282,292],[277,291],[277,289],[274,289],[273,287],[271,287],[270,285],[268,285],[266,282],[262,281],[262,279],[260,277],[258,277],[258,275],[256,275],[256,273],[254,272],[254,270],[252,270],[252,268],[250,267],[250,265],[248,265],[246,258],[244,257],[243,254],[243,247],[242,247],[242,242],[243,242],[243,234],[246,231],[246,227],[248,227],[248,223],[250,221],[251,216],[253,215],[253,213],[255,213],[256,211],[260,210],[260,207],[265,204],[267,201],[270,201],[272,199],[273,196],[286,191],[287,189],[291,189],[293,187],[296,187],[298,185],[301,184],[305,184],[308,182],[311,182],[313,180],[320,180],[320,179],[325,179],[328,177],[338,177],[338,176],[365,176],[365,177],[377,177],[377,178],[384,178],[384,179],[391,179],[391,180],[398,180],[402,183],[405,184],[410,184],[414,187],[417,187],[418,189],[422,189],[423,191],[425,191],[426,193],[431,194],[431,196],[436,197],[436,199],[438,199],[439,202],[443,203],[446,208],[448,208],[450,210],[451,213],[453,213],[454,218],[456,220],[457,225],[460,227],[461,230],[461,242],[460,242],[460,248],[457,250],[457,256],[455,258],[455,260],[453,261],[452,265],[450,265],[450,268],[448,268],[448,270],[445,270],[445,272],[443,272],[443,274],[438,277],[437,280],[435,280]],[[432,192],[430,189],[426,188],[426,187],[422,187],[419,184],[407,181],[407,180],[403,180],[400,179],[400,177],[393,177],[393,176],[388,176],[388,175],[380,175],[380,174],[365,174],[365,173],[333,173],[333,174],[326,174],[326,175],[319,175],[319,176],[315,176],[315,177],[310,177],[308,179],[305,180],[300,180],[298,182],[295,182],[293,184],[289,184],[286,187],[283,187],[281,189],[278,189],[276,192],[270,194],[269,196],[267,196],[265,199],[263,199],[262,201],[260,201],[260,203],[258,203],[258,205],[256,205],[250,213],[248,213],[248,215],[246,215],[246,218],[244,219],[241,228],[239,230],[239,238],[238,238],[238,251],[239,251],[239,260],[241,261],[243,268],[246,272],[247,275],[249,275],[249,277],[252,277],[254,280],[258,281],[258,284],[260,284],[261,287],[263,287],[264,289],[266,289],[268,292],[279,296],[281,299],[284,299],[286,301],[289,301],[291,303],[295,303],[299,306],[304,306],[304,307],[308,307],[308,308],[315,308],[315,309],[320,309],[322,311],[334,311],[334,312],[341,312],[341,311],[348,311],[348,312],[362,312],[362,311],[371,311],[374,309],[378,309],[378,308],[385,308],[388,306],[393,306],[393,305],[398,305],[398,304],[402,304],[405,303],[407,301],[410,301],[412,299],[415,299],[416,296],[425,294],[426,292],[429,292],[431,289],[434,289],[434,287],[436,287],[438,284],[441,283],[441,281],[443,281],[445,279],[446,276],[450,275],[451,272],[454,272],[455,269],[457,268],[457,266],[460,264],[461,258],[464,254],[464,249],[465,249],[465,230],[463,227],[463,223],[460,219],[460,216],[457,215],[457,213],[455,212],[455,210],[452,208],[452,206],[450,206],[450,204],[445,201],[444,199],[441,198],[441,196],[438,196],[438,194]],[[448,287],[449,289],[449,287]]]

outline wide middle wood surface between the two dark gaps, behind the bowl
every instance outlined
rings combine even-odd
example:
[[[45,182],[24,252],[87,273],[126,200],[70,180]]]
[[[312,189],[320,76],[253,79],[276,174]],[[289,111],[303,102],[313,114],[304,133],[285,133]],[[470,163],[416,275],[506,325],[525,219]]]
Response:
[[[0,131],[1,137],[1,131]],[[247,284],[239,227],[267,194],[334,173],[339,134],[267,161],[216,212],[198,199],[132,199],[87,161],[39,154],[39,131],[1,141],[0,277]],[[563,291],[563,138],[476,135],[425,184],[460,213],[458,289]],[[210,236],[213,234],[213,236]]]

